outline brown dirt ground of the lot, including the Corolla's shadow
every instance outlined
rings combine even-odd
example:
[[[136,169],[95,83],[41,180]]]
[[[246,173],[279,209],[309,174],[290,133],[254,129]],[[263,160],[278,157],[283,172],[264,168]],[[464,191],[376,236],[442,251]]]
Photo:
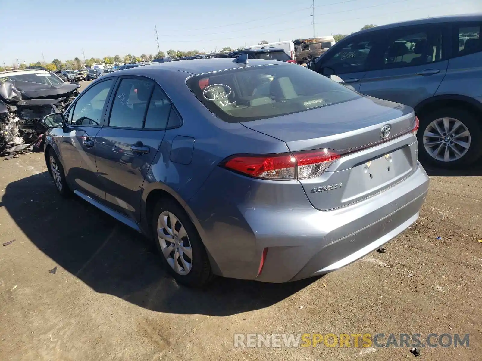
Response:
[[[175,284],[136,232],[61,199],[41,153],[0,158],[0,360],[414,358],[393,347],[234,347],[234,333],[291,332],[469,333],[469,348],[422,348],[417,360],[481,360],[482,169],[428,173],[419,220],[386,253],[321,278],[216,279],[200,291]]]

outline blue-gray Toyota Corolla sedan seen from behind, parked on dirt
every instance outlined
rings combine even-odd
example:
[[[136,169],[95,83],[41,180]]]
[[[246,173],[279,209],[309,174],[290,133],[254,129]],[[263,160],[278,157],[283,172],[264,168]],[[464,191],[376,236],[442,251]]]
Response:
[[[182,284],[334,271],[418,217],[428,177],[408,106],[302,66],[202,59],[107,74],[51,128],[75,193],[152,238]]]

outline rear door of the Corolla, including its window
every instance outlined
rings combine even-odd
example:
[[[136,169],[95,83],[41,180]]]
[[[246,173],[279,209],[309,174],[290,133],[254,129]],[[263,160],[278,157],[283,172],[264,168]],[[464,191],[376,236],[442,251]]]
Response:
[[[164,138],[171,103],[155,99],[160,88],[151,79],[121,77],[118,84],[95,140],[95,160],[107,205],[138,222],[144,179]]]

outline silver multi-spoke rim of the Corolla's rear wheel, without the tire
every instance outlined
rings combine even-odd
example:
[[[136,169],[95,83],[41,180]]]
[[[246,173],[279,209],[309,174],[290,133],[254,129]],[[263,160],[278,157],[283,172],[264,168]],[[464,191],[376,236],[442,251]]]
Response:
[[[157,235],[169,266],[176,273],[187,275],[192,268],[192,248],[181,221],[172,212],[162,212],[157,221]]]

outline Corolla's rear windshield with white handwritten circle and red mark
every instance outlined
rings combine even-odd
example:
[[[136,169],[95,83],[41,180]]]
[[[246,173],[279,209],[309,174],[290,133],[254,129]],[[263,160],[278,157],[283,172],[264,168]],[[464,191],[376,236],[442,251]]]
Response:
[[[262,65],[202,74],[187,86],[230,123],[266,119],[347,102],[360,95],[304,66]]]

